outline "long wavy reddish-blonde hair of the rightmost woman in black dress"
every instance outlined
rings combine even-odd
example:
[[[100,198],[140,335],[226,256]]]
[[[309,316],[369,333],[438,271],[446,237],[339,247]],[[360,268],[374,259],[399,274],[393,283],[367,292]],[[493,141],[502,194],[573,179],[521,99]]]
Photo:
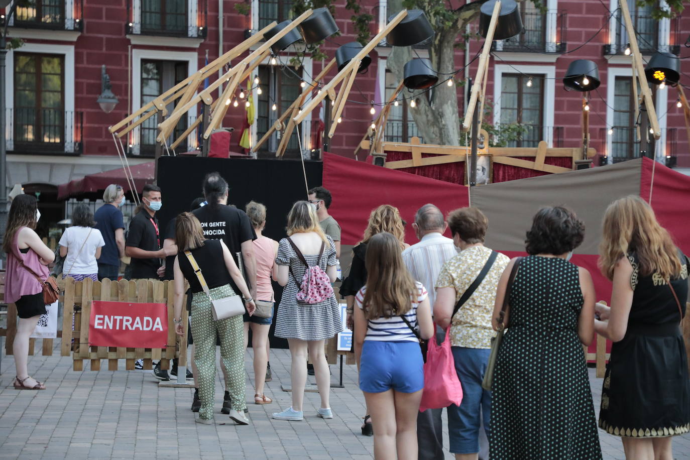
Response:
[[[637,254],[642,276],[658,273],[669,281],[680,275],[676,245],[647,201],[635,195],[613,201],[604,212],[603,226],[599,268],[608,279],[613,279],[615,264],[629,252]]]

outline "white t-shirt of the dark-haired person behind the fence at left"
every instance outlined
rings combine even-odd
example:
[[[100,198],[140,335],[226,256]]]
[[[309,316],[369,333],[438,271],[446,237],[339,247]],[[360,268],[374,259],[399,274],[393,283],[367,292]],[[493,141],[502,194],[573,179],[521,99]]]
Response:
[[[84,243],[87,236],[88,241]],[[106,246],[101,230],[90,227],[70,227],[62,234],[59,244],[67,248],[67,257],[62,266],[63,274],[98,273],[96,250],[101,246]],[[81,248],[82,244],[83,248]],[[79,248],[81,248],[81,251],[79,251]],[[77,252],[79,252],[78,255]],[[72,269],[71,271],[70,268]]]

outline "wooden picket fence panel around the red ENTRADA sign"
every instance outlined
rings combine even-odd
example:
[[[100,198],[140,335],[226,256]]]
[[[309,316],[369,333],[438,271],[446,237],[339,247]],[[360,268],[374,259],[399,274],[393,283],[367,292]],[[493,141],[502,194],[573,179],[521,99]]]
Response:
[[[126,370],[135,368],[137,359],[144,360],[144,369],[152,368],[152,361],[161,361],[161,368],[168,369],[170,359],[176,358],[177,335],[172,321],[175,291],[172,281],[151,281],[140,279],[135,281],[93,281],[84,279],[75,281],[68,277],[65,283],[62,348],[61,355],[72,353],[74,370],[83,370],[83,361],[88,359],[91,370],[101,369],[101,359],[108,360],[108,370],[117,370],[119,360],[125,360]],[[168,341],[166,348],[124,348],[90,346],[88,338],[88,324],[91,312],[91,301],[120,301],[130,303],[166,303],[168,306]],[[183,300],[184,301],[184,300]],[[184,304],[184,303],[183,303]],[[182,321],[187,321],[187,310],[182,309]],[[72,329],[74,324],[74,329]],[[186,352],[186,340],[182,348]]]

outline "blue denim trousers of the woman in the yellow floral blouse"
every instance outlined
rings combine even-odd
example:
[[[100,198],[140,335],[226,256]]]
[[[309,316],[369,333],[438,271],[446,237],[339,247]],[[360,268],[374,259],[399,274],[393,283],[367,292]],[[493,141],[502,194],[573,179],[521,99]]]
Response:
[[[453,454],[479,452],[480,416],[489,437],[491,392],[482,388],[491,350],[484,348],[452,347],[455,372],[462,385],[460,407],[448,407],[448,437]],[[491,438],[489,438],[491,440]]]

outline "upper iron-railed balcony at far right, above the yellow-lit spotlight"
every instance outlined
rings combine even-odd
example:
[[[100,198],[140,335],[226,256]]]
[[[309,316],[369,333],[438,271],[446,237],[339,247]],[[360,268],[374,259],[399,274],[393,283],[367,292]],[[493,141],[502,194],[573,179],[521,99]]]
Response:
[[[609,23],[609,37],[611,43],[604,45],[604,54],[625,54],[629,46],[629,38],[624,26],[623,18],[619,12],[615,19]],[[671,52],[680,54],[680,45],[666,44],[659,42],[660,20],[651,17],[649,14],[633,14],[631,17],[633,28],[635,29],[638,47],[642,54],[653,54],[656,51]],[[669,43],[679,43],[680,40],[680,20],[679,18],[669,19]]]

